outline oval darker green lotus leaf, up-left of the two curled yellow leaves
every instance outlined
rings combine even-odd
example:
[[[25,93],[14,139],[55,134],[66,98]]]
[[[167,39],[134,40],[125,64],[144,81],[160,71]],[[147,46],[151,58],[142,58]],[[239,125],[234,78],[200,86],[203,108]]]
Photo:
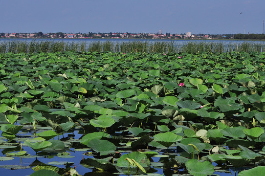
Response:
[[[110,141],[96,138],[88,141],[87,146],[100,155],[114,154],[116,150],[116,146]]]

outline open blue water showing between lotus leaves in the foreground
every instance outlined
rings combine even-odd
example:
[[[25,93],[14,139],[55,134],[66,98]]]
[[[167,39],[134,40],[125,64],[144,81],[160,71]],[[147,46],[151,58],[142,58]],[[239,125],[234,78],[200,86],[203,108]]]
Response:
[[[1,131],[0,131],[1,132]],[[74,134],[74,135],[73,135]],[[81,139],[82,137],[82,133],[81,131],[74,131],[73,133],[64,133],[63,134],[64,137],[66,138],[66,136],[72,136],[73,139]],[[60,140],[64,140],[63,139],[63,135],[59,135],[59,139]],[[23,138],[23,137],[28,137],[28,136],[32,136],[32,133],[30,132],[19,132],[18,134],[16,134],[16,136],[18,136],[19,138]],[[57,139],[57,137],[55,137],[54,139]],[[3,137],[1,137],[1,140],[6,140]],[[29,158],[23,158],[23,157],[14,157],[15,159],[13,160],[9,160],[9,161],[0,161],[0,175],[1,176],[29,176],[30,174],[34,173],[35,171],[33,171],[31,168],[35,167],[36,165],[39,165],[41,163],[44,164],[48,164],[48,162],[53,162],[53,161],[67,161],[67,162],[74,162],[73,165],[71,165],[71,167],[75,167],[76,166],[76,171],[78,172],[78,174],[83,175],[83,176],[126,176],[126,175],[119,175],[119,174],[111,174],[111,173],[105,173],[105,174],[99,174],[99,173],[95,173],[91,168],[86,168],[84,166],[82,166],[80,164],[80,161],[82,160],[82,158],[84,157],[84,159],[88,158],[88,157],[93,157],[93,156],[88,156],[88,155],[84,155],[83,151],[75,151],[75,148],[67,148],[66,152],[70,153],[71,156],[74,156],[72,158],[61,158],[56,156],[57,153],[53,153],[50,152],[49,153],[42,153],[39,152],[37,154],[37,156],[35,155],[35,151],[33,149],[31,149],[30,147],[26,147],[23,146],[22,147],[24,151],[27,151],[27,154],[30,154],[32,157]],[[5,150],[6,149],[0,149],[0,156],[5,156]],[[164,150],[162,150],[161,152],[159,152],[159,154],[164,154]],[[175,149],[170,150],[171,154],[174,154],[174,152],[176,152]],[[43,155],[44,154],[44,155]],[[122,153],[122,154],[128,154],[126,152]],[[159,163],[159,161],[161,161],[161,158],[159,157],[152,157],[153,161],[155,163]],[[216,163],[213,163],[213,165],[217,165]],[[4,168],[3,166],[6,166],[6,168]],[[16,168],[18,166],[21,166],[22,168]],[[64,165],[53,165],[53,166],[57,166],[59,168],[65,168]],[[23,168],[24,167],[24,168]],[[164,176],[180,176],[181,175],[181,170],[178,171],[178,173],[176,171],[173,170],[167,170],[167,171],[163,171],[163,169],[161,167],[151,167],[150,171],[154,171],[153,175],[156,176],[157,174],[159,175],[164,175]],[[230,171],[230,172],[229,172]],[[229,170],[227,172],[229,173],[223,173],[223,172],[215,172],[213,176],[235,176],[235,171],[233,170],[233,168],[231,170]],[[186,176],[186,174],[185,174]]]

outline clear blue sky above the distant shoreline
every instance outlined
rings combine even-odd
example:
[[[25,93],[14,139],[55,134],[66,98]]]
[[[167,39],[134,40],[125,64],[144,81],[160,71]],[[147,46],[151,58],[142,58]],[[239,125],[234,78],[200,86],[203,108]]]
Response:
[[[260,34],[265,0],[0,0],[0,16],[0,32]]]

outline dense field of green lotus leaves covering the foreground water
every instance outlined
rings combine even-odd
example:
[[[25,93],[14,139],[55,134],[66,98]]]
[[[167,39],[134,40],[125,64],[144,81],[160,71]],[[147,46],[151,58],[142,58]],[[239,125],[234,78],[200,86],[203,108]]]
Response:
[[[136,45],[0,54],[0,168],[33,158],[14,167],[206,176],[264,165],[264,52],[129,52]]]

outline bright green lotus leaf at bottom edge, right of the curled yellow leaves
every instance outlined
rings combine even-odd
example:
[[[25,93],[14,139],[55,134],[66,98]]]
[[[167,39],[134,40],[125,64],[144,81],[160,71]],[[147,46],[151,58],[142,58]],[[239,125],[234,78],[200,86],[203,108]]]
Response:
[[[193,176],[211,176],[215,172],[214,166],[209,161],[200,162],[197,159],[190,159],[185,166]]]

